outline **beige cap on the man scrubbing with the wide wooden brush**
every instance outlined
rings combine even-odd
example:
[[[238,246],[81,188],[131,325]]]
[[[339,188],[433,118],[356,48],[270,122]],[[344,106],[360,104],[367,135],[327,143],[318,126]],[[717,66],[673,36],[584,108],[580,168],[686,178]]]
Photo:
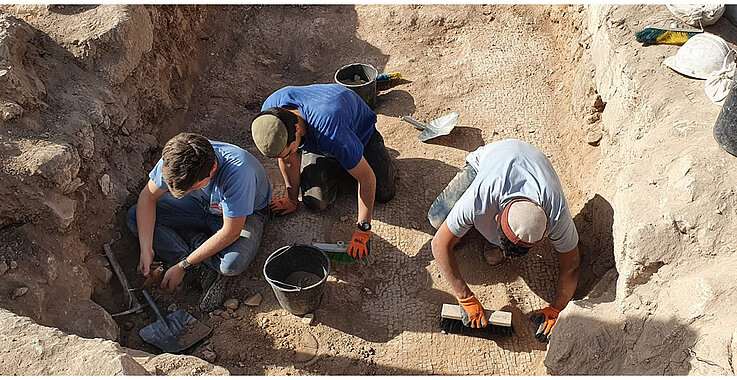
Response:
[[[545,237],[548,217],[537,203],[515,199],[504,208],[501,223],[504,234],[512,243],[533,247]]]

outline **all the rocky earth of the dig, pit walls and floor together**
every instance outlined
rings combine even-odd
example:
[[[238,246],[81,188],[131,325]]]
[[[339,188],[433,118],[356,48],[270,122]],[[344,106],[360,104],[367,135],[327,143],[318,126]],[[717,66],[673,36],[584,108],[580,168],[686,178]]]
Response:
[[[703,83],[661,64],[677,47],[634,40],[675,22],[662,5],[0,11],[0,374],[735,374],[737,161],[711,137],[719,107]],[[709,31],[737,41],[727,20]],[[396,198],[375,209],[374,264],[334,265],[312,321],[281,310],[264,259],[347,240],[356,212],[350,192],[321,214],[300,209],[267,226],[252,267],[231,280],[239,302],[202,314],[187,285],[154,292],[162,310],[213,327],[186,355],[156,355],[138,336],[153,313],[110,316],[122,289],[102,244],[139,287],[125,212],[165,141],[186,130],[238,144],[278,196],[253,116],[272,91],[330,83],[352,62],[405,78],[374,109],[400,175]],[[431,144],[398,119],[448,112],[459,126]],[[550,157],[581,237],[579,289],[547,346],[526,315],[555,292],[548,245],[492,268],[469,233],[461,270],[487,308],[513,313],[515,335],[437,325],[453,297],[426,210],[469,151],[510,137]]]

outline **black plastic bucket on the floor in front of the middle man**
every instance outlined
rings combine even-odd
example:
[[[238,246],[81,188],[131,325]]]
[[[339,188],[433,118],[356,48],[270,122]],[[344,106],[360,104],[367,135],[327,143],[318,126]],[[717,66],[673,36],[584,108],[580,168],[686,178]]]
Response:
[[[264,276],[284,310],[307,314],[322,300],[330,259],[322,250],[301,244],[281,247],[264,263]]]

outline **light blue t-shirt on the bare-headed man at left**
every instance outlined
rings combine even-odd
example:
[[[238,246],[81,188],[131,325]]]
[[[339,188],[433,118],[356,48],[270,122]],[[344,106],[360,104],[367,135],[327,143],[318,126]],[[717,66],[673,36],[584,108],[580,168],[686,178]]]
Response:
[[[215,176],[205,188],[187,196],[210,213],[229,218],[248,216],[266,207],[271,202],[271,184],[261,163],[238,146],[212,140],[210,144],[218,160]],[[163,165],[161,158],[148,176],[160,189],[168,190],[161,175]]]

